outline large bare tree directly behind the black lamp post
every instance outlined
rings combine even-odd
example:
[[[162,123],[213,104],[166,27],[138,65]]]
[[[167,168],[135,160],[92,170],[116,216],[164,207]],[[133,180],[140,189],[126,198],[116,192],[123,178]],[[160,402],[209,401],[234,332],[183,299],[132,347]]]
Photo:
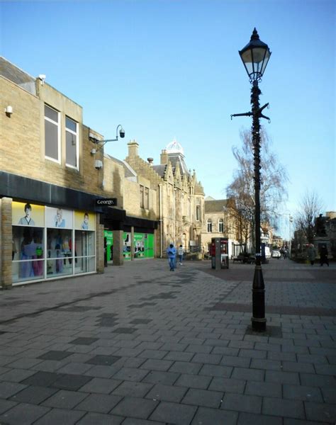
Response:
[[[262,129],[261,137],[261,189],[260,189],[260,218],[276,228],[277,211],[287,198],[286,183],[288,176],[276,155],[269,149],[270,141]],[[233,174],[233,182],[226,188],[228,198],[234,201],[235,208],[230,214],[235,217],[237,233],[244,235],[245,243],[252,237],[254,244],[254,158],[253,142],[250,130],[240,132],[242,147],[233,147],[233,155],[237,159],[238,168]],[[243,240],[240,241],[244,243]]]

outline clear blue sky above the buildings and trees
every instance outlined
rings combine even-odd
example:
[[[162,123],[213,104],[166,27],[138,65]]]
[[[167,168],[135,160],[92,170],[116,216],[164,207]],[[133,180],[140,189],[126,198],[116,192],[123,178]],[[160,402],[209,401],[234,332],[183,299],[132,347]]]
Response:
[[[289,174],[294,214],[307,191],[336,210],[335,1],[1,1],[1,55],[83,107],[84,123],[110,139],[118,159],[174,137],[206,196],[225,198],[237,164],[232,147],[251,118],[250,82],[238,50],[254,26],[272,55],[260,89],[271,149]],[[324,212],[324,211],[323,211]],[[287,218],[286,218],[287,217]],[[288,216],[282,233],[288,234]]]

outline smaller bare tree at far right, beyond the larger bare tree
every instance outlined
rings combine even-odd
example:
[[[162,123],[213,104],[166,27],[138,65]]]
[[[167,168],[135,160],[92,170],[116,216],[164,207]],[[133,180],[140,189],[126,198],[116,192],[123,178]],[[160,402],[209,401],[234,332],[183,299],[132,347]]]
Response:
[[[307,191],[299,204],[300,210],[296,212],[294,225],[300,230],[310,244],[315,237],[315,220],[323,209],[323,202],[315,192]]]

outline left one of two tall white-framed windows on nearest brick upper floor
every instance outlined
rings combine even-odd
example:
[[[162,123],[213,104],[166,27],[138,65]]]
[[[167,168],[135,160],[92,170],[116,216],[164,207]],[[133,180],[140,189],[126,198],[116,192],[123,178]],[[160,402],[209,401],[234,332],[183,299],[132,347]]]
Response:
[[[60,113],[45,105],[45,157],[60,162]]]

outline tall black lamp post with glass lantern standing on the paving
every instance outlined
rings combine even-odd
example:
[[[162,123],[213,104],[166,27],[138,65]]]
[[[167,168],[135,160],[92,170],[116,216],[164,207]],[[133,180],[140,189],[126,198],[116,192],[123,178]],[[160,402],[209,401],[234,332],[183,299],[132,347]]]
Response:
[[[265,285],[262,276],[262,261],[260,254],[260,123],[259,118],[268,117],[262,114],[264,108],[269,104],[266,103],[260,107],[258,81],[262,79],[267,62],[271,56],[267,44],[259,39],[257,30],[254,28],[250,42],[239,52],[240,58],[245,66],[250,82],[251,89],[251,105],[252,111],[247,113],[237,113],[234,116],[252,116],[252,142],[254,150],[254,222],[255,222],[255,268],[252,285],[252,329],[254,331],[266,330],[265,317]]]

